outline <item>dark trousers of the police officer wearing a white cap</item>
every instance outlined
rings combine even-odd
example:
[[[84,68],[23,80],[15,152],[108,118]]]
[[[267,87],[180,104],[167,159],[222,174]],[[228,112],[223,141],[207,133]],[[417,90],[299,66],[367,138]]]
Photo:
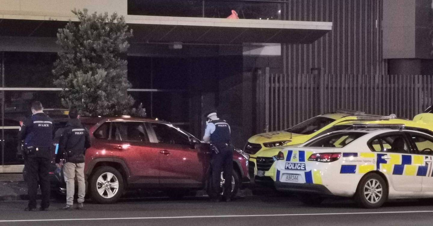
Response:
[[[221,172],[223,173],[224,194],[225,198],[231,197],[232,194],[232,171],[233,171],[233,151],[231,149],[220,149],[220,153],[212,154],[212,177],[210,198],[216,198],[222,192],[221,190]]]

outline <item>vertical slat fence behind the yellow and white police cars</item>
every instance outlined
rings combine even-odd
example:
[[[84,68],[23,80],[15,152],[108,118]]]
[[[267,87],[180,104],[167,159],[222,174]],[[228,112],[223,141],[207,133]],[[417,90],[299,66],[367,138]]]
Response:
[[[256,132],[339,109],[412,119],[433,104],[430,75],[270,74],[256,80]]]

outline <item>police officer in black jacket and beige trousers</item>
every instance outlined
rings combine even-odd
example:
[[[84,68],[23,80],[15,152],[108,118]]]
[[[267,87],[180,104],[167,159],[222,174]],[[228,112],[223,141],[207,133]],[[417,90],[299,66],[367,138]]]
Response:
[[[74,205],[75,192],[75,177],[78,182],[78,207],[84,208],[84,196],[86,192],[86,184],[84,181],[84,154],[86,149],[90,147],[89,132],[81,124],[78,111],[69,111],[69,122],[60,137],[58,154],[55,162],[58,168],[63,165],[63,175],[66,182],[66,206],[61,210],[72,210]],[[62,164],[61,160],[65,160]]]

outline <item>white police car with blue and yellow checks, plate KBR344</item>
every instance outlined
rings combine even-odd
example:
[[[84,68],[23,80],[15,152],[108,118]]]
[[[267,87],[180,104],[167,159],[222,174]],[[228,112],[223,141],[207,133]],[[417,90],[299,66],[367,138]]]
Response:
[[[365,208],[388,198],[433,197],[433,136],[403,125],[359,126],[281,149],[275,156],[277,190],[296,192],[310,204],[354,197]]]

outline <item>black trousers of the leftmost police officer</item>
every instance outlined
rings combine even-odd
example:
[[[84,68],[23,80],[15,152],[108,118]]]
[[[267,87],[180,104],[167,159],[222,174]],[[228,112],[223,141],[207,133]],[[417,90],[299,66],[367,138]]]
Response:
[[[41,186],[42,208],[50,206],[50,180],[49,168],[51,161],[49,158],[36,156],[27,156],[24,163],[25,177],[27,182],[27,192],[29,194],[29,208],[36,208],[36,196],[38,194],[38,185]]]

